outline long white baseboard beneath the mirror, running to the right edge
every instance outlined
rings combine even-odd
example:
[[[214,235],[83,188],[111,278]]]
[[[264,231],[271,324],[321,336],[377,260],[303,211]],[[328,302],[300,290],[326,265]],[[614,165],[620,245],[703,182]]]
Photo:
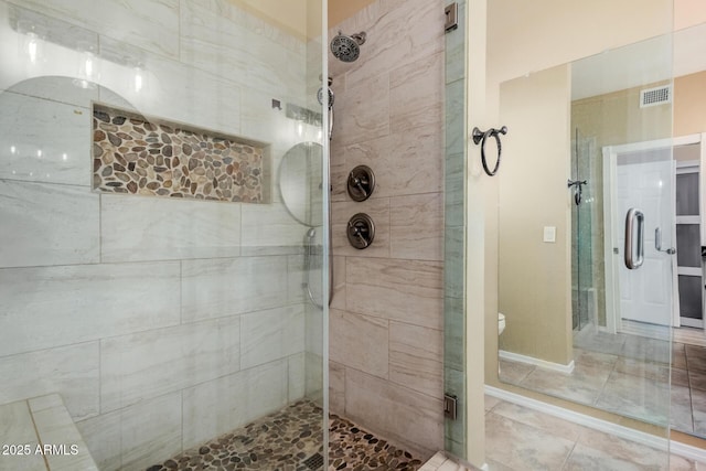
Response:
[[[532,399],[523,395],[511,393],[509,390],[500,389],[498,387],[485,385],[485,394],[496,397],[499,399],[506,400],[509,403],[517,404],[520,406],[527,407],[530,409],[539,410],[541,413],[558,417],[564,420],[568,420],[574,424],[581,425],[584,427],[592,428],[606,433],[613,435],[616,437],[624,438],[637,443],[646,445],[648,447],[668,450],[672,454],[687,458],[691,460],[706,462],[706,449],[693,447],[691,445],[682,443],[680,441],[667,440],[666,438],[655,437],[643,431],[624,427],[618,424],[609,422],[607,420],[597,419],[585,414],[575,413],[559,406],[543,403],[541,400]]]

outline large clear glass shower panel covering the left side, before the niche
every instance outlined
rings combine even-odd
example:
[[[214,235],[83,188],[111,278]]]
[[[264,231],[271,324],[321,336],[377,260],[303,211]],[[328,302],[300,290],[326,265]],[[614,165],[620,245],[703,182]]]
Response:
[[[76,446],[0,469],[324,464],[328,308],[277,175],[319,146],[292,184],[328,234],[325,4],[286,3],[0,0],[0,441]]]

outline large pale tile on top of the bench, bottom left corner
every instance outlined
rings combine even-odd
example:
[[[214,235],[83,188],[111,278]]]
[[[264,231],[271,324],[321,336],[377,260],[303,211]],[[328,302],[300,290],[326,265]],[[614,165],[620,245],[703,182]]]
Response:
[[[3,454],[0,471],[46,471],[42,456],[34,453],[39,440],[26,400],[0,407],[0,437],[2,445],[29,445],[32,450],[29,454]]]

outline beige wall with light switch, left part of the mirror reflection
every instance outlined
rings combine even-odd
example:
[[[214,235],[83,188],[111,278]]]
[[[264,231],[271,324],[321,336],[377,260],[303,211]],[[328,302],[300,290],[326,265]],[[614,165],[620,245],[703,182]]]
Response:
[[[560,365],[573,360],[570,88],[570,67],[560,65],[500,90],[511,136],[498,174],[501,349]],[[555,243],[543,240],[545,226],[555,227]]]

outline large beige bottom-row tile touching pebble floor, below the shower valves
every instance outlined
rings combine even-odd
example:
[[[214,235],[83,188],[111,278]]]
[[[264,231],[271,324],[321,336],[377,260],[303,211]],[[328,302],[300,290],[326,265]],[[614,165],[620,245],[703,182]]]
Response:
[[[431,454],[443,447],[440,398],[353,368],[345,368],[345,414],[351,420],[379,430],[422,454]]]

